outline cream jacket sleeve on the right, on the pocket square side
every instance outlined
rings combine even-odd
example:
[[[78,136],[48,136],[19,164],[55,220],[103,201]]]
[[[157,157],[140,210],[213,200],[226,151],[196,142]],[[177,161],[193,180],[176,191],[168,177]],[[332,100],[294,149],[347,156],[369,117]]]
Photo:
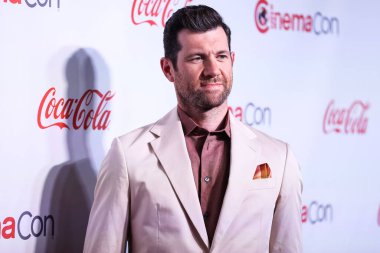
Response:
[[[301,253],[302,178],[293,152],[286,145],[286,161],[276,202],[270,237],[270,253]]]

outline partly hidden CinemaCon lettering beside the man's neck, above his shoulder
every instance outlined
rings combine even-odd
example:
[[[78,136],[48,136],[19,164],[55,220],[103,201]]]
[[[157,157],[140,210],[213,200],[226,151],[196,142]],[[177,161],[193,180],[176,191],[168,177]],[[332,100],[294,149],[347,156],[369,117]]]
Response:
[[[228,110],[235,118],[249,126],[269,126],[272,121],[272,110],[269,107],[257,106],[252,102],[245,106],[229,106]]]

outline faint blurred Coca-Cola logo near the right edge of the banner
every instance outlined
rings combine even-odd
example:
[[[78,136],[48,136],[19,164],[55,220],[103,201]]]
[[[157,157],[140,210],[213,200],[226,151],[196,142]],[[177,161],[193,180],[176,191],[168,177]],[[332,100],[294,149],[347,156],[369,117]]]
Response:
[[[369,104],[356,100],[347,108],[335,106],[330,101],[323,118],[323,132],[325,134],[365,134],[367,132],[368,117],[366,112]]]

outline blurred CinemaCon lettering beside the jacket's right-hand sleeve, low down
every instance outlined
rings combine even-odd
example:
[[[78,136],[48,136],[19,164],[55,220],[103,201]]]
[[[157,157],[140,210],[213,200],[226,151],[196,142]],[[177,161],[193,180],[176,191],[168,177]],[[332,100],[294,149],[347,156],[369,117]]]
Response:
[[[303,205],[301,210],[302,223],[312,225],[333,220],[333,207],[331,204],[322,204],[312,201],[309,205]]]

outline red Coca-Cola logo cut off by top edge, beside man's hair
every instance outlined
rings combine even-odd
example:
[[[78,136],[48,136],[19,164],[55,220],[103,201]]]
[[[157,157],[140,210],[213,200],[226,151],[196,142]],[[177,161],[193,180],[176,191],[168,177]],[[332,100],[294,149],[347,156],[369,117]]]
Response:
[[[148,23],[151,26],[161,24],[164,27],[174,10],[187,6],[190,2],[192,0],[133,0],[132,23]]]

